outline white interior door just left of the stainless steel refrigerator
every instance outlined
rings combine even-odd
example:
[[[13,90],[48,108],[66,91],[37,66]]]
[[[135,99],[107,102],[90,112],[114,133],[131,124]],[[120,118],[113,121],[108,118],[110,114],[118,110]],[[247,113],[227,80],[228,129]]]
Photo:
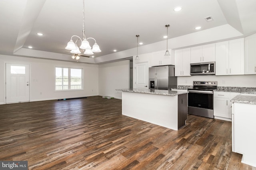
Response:
[[[148,62],[135,63],[135,88],[148,89]]]

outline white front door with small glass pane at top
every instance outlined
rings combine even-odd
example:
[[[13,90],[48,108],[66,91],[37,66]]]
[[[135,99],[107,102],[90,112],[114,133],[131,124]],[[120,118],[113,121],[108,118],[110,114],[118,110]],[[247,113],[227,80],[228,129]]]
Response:
[[[6,103],[29,101],[29,65],[6,63]]]

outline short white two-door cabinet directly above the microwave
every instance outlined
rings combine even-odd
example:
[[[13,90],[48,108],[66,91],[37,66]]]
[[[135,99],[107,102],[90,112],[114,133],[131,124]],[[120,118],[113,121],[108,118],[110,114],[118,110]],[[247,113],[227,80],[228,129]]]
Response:
[[[215,43],[191,47],[190,63],[215,61]]]

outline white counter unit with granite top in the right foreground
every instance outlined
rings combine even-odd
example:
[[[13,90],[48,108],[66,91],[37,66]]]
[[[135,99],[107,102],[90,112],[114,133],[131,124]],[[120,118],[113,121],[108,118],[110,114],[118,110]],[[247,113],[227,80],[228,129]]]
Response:
[[[256,167],[256,93],[238,95],[232,102],[232,151],[242,163]]]

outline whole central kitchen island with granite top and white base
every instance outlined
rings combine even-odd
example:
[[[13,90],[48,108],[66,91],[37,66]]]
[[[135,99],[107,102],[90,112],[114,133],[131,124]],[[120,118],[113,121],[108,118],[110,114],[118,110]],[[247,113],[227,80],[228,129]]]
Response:
[[[186,125],[186,91],[117,89],[122,91],[122,115],[178,130]]]

